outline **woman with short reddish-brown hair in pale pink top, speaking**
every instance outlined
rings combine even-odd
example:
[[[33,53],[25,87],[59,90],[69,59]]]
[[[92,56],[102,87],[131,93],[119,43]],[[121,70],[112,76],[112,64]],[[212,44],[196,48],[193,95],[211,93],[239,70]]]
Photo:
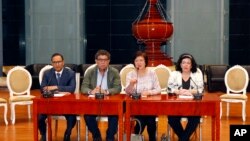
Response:
[[[141,94],[142,96],[160,94],[161,87],[154,71],[149,70],[146,66],[148,57],[146,53],[138,51],[134,57],[134,65],[136,70],[131,71],[126,77],[127,94]],[[156,141],[156,121],[155,116],[136,116],[141,123],[141,131],[147,126],[149,141]],[[138,122],[135,125],[135,134],[141,134]]]

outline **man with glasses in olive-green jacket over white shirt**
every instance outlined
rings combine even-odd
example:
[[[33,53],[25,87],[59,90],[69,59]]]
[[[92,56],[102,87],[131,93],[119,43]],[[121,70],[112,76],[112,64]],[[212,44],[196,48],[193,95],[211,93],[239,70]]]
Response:
[[[118,94],[121,91],[120,75],[117,69],[110,67],[110,53],[106,50],[99,50],[95,54],[96,66],[86,72],[81,86],[81,92],[84,94],[95,95],[102,93],[104,95]],[[100,130],[96,121],[97,115],[84,115],[84,120],[92,133],[94,141],[101,141]],[[114,141],[114,135],[117,132],[118,117],[108,116],[108,129],[106,132],[106,141]]]

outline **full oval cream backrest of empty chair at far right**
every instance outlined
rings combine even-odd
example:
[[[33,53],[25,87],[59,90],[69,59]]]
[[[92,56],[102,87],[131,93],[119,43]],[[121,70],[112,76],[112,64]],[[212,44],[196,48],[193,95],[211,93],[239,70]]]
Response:
[[[225,74],[225,85],[227,94],[243,93],[246,94],[246,89],[249,83],[249,76],[245,68],[240,65],[235,65],[229,68]]]

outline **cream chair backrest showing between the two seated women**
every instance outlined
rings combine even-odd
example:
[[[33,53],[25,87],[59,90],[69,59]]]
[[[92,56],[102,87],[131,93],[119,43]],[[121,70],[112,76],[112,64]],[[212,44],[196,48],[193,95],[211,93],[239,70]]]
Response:
[[[158,77],[162,93],[166,92],[168,87],[168,78],[170,76],[171,70],[167,66],[162,64],[156,66],[155,68],[153,68],[153,70]]]

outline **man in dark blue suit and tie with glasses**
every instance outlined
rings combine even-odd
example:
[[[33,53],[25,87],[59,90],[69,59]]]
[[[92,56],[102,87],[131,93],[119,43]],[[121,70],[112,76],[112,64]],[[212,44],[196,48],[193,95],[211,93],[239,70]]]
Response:
[[[75,72],[64,67],[63,56],[55,53],[51,57],[53,68],[44,72],[41,91],[59,91],[73,93],[76,87]],[[38,119],[38,128],[41,134],[41,141],[46,141],[47,115],[41,114]],[[76,124],[76,115],[65,115],[67,129],[64,133],[64,141],[70,140],[71,130]]]

